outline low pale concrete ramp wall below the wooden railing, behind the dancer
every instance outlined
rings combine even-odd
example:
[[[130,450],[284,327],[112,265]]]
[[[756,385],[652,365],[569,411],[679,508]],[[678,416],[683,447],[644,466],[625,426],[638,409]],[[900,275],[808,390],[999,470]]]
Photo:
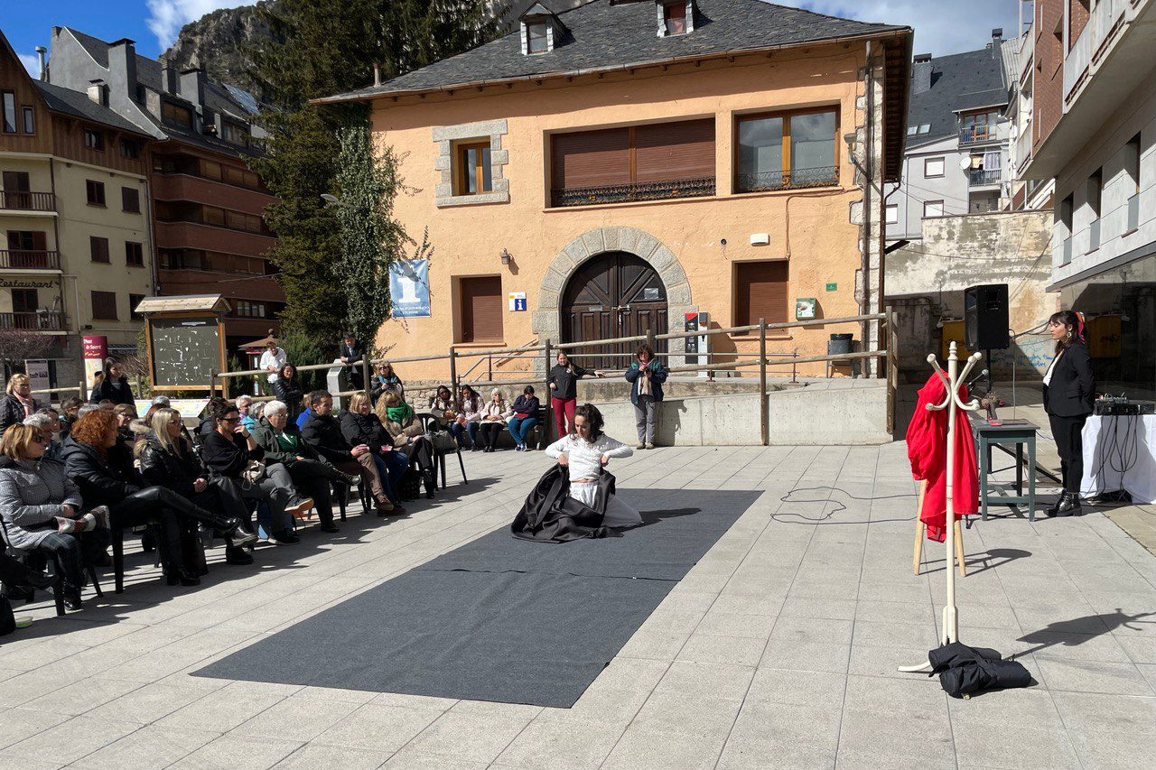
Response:
[[[772,445],[860,445],[891,440],[887,431],[887,383],[824,380],[768,393]],[[599,403],[606,432],[637,439],[633,405]],[[667,399],[659,407],[658,443],[664,446],[757,446],[762,444],[758,394]]]

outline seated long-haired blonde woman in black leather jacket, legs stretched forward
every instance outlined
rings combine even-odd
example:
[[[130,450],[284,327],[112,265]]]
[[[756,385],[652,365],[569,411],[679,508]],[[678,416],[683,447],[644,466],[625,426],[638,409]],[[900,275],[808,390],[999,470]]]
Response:
[[[212,511],[225,521],[239,521],[224,538],[228,564],[252,564],[253,557],[242,546],[257,540],[250,525],[249,509],[234,483],[209,477],[188,439],[181,435],[180,413],[161,407],[149,419],[148,432],[136,442],[135,454],[141,475],[149,484],[168,487],[185,499]]]

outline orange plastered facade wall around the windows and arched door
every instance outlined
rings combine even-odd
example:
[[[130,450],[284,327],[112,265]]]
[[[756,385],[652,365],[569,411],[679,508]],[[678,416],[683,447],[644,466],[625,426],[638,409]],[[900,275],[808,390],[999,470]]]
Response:
[[[635,246],[643,249],[645,244],[647,254],[662,259],[669,256],[677,272],[686,275],[686,283],[667,286],[672,309],[681,305],[706,310],[713,324],[731,326],[735,265],[787,260],[790,318],[794,318],[795,297],[817,297],[821,317],[857,314],[854,289],[861,254],[859,228],[852,222],[861,210],[853,213],[852,205],[861,200],[862,192],[842,139],[837,142],[837,185],[735,194],[732,134],[739,113],[827,104],[838,106],[840,138],[855,131],[862,123],[862,112],[857,109],[862,99],[862,46],[816,45],[806,53],[739,58],[733,62],[704,62],[702,67],[670,66],[665,73],[645,69],[632,75],[608,74],[600,80],[576,79],[572,83],[529,81],[482,92],[465,89],[424,99],[375,101],[376,138],[393,147],[401,158],[406,184],[416,188],[414,194],[398,198],[395,215],[415,237],[428,227],[435,249],[429,272],[431,316],[387,321],[378,345],[392,346],[393,356],[446,350],[455,340],[453,298],[459,282],[495,274],[502,277],[503,293],[526,293],[527,312],[505,312],[502,342],[476,347],[523,345],[544,328],[535,324],[535,316],[557,314],[557,304],[550,303],[557,302],[564,281],[577,269],[573,258],[568,257],[568,245],[576,239],[585,244],[588,236],[601,244],[599,250],[622,247],[621,243],[607,243],[605,237],[606,232],[621,232],[621,228],[644,234],[645,238],[635,239]],[[703,117],[716,120],[714,197],[548,207],[551,132]],[[505,121],[507,128],[497,150],[505,161],[502,179],[495,182],[502,183],[509,202],[438,208],[443,169],[437,165],[442,147],[435,141],[435,129],[486,121]],[[868,216],[877,223],[879,195],[873,197],[872,209]],[[770,244],[750,245],[750,236],[756,232],[769,232]],[[874,234],[875,228],[873,250],[877,247]],[[513,257],[507,266],[499,260],[503,250]],[[588,257],[586,251],[584,258]],[[568,272],[553,271],[554,264],[566,264]],[[827,290],[828,284],[835,284],[832,290]],[[872,298],[877,296],[873,289]],[[670,325],[676,325],[673,314]],[[790,351],[798,347],[800,355],[822,355],[831,332],[855,332],[859,336],[857,325],[795,330],[772,334],[770,349]],[[749,354],[757,349],[757,340],[721,335],[713,339],[717,350]],[[416,378],[449,375],[445,362],[407,364],[407,370]],[[822,371],[822,364],[813,368],[813,372]]]

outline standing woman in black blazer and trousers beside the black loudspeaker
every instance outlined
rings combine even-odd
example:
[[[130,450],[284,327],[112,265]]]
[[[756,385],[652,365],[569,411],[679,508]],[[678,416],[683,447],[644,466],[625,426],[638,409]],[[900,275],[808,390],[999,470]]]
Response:
[[[1047,516],[1080,514],[1080,480],[1083,479],[1083,425],[1091,414],[1091,356],[1083,342],[1083,317],[1061,310],[1048,319],[1055,357],[1044,375],[1044,412],[1060,453],[1064,491]]]

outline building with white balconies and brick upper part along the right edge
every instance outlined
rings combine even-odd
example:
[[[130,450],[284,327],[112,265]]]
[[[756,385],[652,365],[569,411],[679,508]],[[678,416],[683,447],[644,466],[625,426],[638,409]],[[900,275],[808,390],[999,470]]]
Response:
[[[1156,391],[1156,0],[1037,0],[1018,176],[1054,179],[1050,290],[1089,318],[1097,385]]]

